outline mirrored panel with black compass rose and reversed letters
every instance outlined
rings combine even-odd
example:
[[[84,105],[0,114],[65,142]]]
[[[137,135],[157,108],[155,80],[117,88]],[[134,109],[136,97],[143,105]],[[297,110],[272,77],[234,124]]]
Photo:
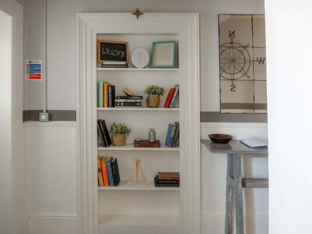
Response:
[[[266,113],[264,15],[219,15],[221,113]]]

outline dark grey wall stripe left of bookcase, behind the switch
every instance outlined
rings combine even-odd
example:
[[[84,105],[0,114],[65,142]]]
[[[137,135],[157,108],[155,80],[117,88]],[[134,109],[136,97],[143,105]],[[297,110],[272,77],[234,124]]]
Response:
[[[23,111],[24,121],[39,121],[39,113],[43,110],[27,110]],[[49,113],[49,121],[76,121],[75,110],[47,110]]]

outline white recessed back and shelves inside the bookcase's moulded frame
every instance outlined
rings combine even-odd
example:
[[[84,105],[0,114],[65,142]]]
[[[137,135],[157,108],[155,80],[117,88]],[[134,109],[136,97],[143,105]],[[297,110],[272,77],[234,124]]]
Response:
[[[108,40],[108,41],[127,41],[129,45],[129,53],[134,48],[139,45],[145,46],[149,53],[151,54],[151,45],[153,41],[164,40],[170,41],[175,40],[178,44],[178,34],[153,34],[153,35],[141,35],[141,34],[123,34],[120,36],[119,34],[105,34],[99,33],[96,36],[97,40]],[[177,54],[179,48],[176,48]],[[178,61],[178,56],[176,58]],[[168,124],[174,123],[175,121],[179,121],[180,119],[180,108],[179,108],[179,100],[176,100],[173,108],[164,107],[164,103],[166,101],[168,91],[170,88],[173,88],[175,84],[180,83],[180,69],[179,68],[171,68],[171,69],[163,69],[163,68],[134,68],[129,62],[129,68],[99,68],[99,64],[97,63],[97,73],[96,80],[97,85],[100,81],[107,81],[112,85],[115,85],[115,92],[117,95],[125,95],[123,92],[124,88],[128,88],[131,92],[134,92],[137,95],[142,95],[142,105],[140,108],[122,108],[122,107],[97,107],[97,118],[105,119],[106,125],[109,128],[113,122],[116,123],[124,123],[129,128],[132,129],[129,137],[127,137],[126,145],[124,146],[114,146],[111,144],[109,147],[103,147],[100,141],[98,141],[97,147],[97,155],[100,156],[113,156],[118,160],[119,166],[119,174],[121,181],[118,186],[108,186],[108,187],[98,187],[99,193],[99,203],[103,203],[106,199],[113,199],[116,196],[135,196],[138,200],[146,199],[147,201],[150,199],[152,203],[152,197],[149,198],[148,191],[154,191],[158,193],[158,196],[163,196],[163,192],[170,192],[170,194],[174,197],[175,200],[179,201],[179,187],[155,187],[154,185],[154,177],[158,171],[179,171],[179,161],[180,161],[180,147],[168,147],[165,145],[165,138],[167,136]],[[178,67],[179,64],[176,64]],[[137,71],[137,72],[136,72]],[[147,107],[146,98],[147,94],[143,93],[143,90],[148,85],[157,85],[161,86],[165,89],[165,93],[160,97],[161,102],[159,107]],[[183,97],[183,91],[179,93],[179,97]],[[161,147],[134,147],[134,140],[139,138],[148,139],[148,132],[150,128],[154,128],[156,131],[156,138],[160,140]],[[118,152],[118,153],[116,153]],[[139,152],[139,153],[138,153]],[[161,154],[160,154],[161,152]],[[140,156],[138,156],[140,155]],[[141,160],[141,164],[144,170],[145,177],[148,178],[146,186],[144,181],[135,181],[132,180],[128,186],[127,178],[130,175],[133,161],[139,158]],[[168,163],[170,162],[170,163]],[[140,176],[139,172],[139,176]],[[183,182],[180,182],[183,184]],[[121,191],[122,190],[122,191]],[[103,201],[104,200],[104,201]],[[158,200],[158,199],[157,199]],[[158,203],[160,201],[157,201]],[[160,205],[160,204],[159,204]],[[116,204],[119,206],[119,204]],[[168,213],[165,209],[162,209],[161,206],[153,207],[154,213],[159,213],[163,215],[167,215],[168,217],[177,217],[179,216],[178,207],[176,207],[176,203],[168,204],[171,207],[173,212]],[[131,206],[130,206],[131,207]],[[130,207],[124,206],[124,213],[131,211]],[[123,210],[119,208],[120,210]],[[133,208],[132,208],[133,209]],[[144,210],[132,210],[133,215],[146,215],[149,213],[150,208],[144,208]],[[106,217],[110,220],[111,214],[114,214],[113,210],[105,210],[105,208],[99,208],[98,213],[100,217]],[[147,223],[153,223],[153,220],[148,219],[149,216],[145,217]],[[154,218],[154,216],[150,216],[150,218]],[[99,218],[99,225],[107,225],[108,223]],[[138,225],[138,220],[134,220],[133,225]],[[102,224],[100,224],[102,223]],[[115,221],[118,226],[118,222]],[[178,222],[176,222],[178,224]],[[174,228],[171,228],[170,231],[174,233],[178,233],[178,225],[174,225]],[[164,233],[167,233],[164,230]],[[141,232],[139,232],[141,233]],[[106,233],[105,233],[106,234]],[[142,233],[143,234],[143,233]]]

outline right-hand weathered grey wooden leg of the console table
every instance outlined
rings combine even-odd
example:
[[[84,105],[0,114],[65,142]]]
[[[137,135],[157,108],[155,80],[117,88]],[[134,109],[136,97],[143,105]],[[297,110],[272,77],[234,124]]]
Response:
[[[236,234],[244,234],[243,217],[243,191],[241,183],[241,158],[234,157],[234,193],[235,193],[235,212],[236,212]]]

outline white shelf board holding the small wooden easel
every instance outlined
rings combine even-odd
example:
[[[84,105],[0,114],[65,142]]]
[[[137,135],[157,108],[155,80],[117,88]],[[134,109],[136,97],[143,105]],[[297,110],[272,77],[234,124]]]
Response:
[[[154,180],[131,180],[128,186],[128,180],[120,180],[118,186],[98,187],[98,190],[180,190],[180,187],[155,187]]]

